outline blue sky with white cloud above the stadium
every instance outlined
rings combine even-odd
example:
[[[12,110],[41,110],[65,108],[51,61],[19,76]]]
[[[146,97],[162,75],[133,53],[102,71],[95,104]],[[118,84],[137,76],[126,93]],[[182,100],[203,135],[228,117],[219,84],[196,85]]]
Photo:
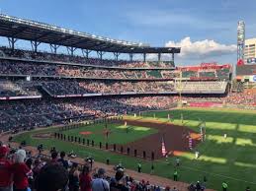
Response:
[[[256,37],[255,0],[0,0],[0,9],[80,32],[180,46],[181,65],[234,64],[240,20],[246,38]]]

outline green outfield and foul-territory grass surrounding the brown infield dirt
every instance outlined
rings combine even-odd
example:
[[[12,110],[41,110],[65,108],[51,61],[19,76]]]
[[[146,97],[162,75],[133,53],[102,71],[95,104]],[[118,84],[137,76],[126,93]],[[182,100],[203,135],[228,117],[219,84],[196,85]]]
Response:
[[[199,131],[199,124],[202,121],[206,121],[207,127],[207,141],[200,144],[197,148],[201,157],[199,159],[194,159],[194,153],[186,153],[180,157],[181,166],[178,167],[179,180],[195,182],[197,180],[202,180],[203,176],[206,175],[208,178],[207,186],[215,190],[221,190],[221,183],[223,180],[228,183],[228,190],[231,191],[242,191],[245,190],[246,186],[250,186],[251,190],[256,190],[255,111],[186,108],[143,113],[143,117],[154,119],[153,116],[155,114],[155,120],[164,122],[167,121],[168,113],[170,113],[174,124],[182,125],[182,113],[184,118],[183,125]],[[130,116],[129,118],[134,117]],[[136,119],[139,119],[139,117]],[[50,128],[43,131],[55,131],[55,129]],[[150,131],[151,130],[143,131],[143,133],[148,133]],[[80,157],[90,155],[102,162],[105,162],[107,158],[114,164],[122,161],[127,168],[136,169],[138,159],[94,150],[92,148],[84,148],[82,146],[58,140],[34,139],[31,136],[33,133],[35,132],[22,134],[16,137],[15,140],[17,142],[27,140],[28,144],[34,146],[43,143],[46,148],[50,148],[54,145],[58,150],[66,152],[73,150]],[[223,138],[223,134],[227,134],[226,139]],[[171,158],[169,161],[170,163],[167,163],[165,159],[155,161],[155,174],[171,178],[175,168],[175,158]],[[150,165],[150,161],[142,161],[142,171],[149,172]]]

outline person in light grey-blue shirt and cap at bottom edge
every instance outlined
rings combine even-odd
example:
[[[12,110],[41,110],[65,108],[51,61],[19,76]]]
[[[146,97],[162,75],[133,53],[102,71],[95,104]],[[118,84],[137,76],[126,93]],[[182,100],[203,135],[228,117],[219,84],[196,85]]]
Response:
[[[106,170],[104,168],[99,168],[98,177],[92,182],[93,191],[110,191],[110,184],[105,180]]]

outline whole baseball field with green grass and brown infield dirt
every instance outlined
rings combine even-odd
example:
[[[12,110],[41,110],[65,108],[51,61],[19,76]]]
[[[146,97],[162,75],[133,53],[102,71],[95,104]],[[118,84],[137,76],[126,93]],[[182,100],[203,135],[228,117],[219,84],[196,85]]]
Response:
[[[168,119],[168,114],[170,118]],[[127,125],[125,124],[127,122]],[[206,140],[200,140],[200,126],[206,126]],[[112,164],[122,161],[126,168],[136,169],[142,163],[142,171],[150,172],[150,159],[134,158],[132,154],[110,152],[98,147],[71,143],[54,137],[40,138],[35,135],[51,134],[58,131],[51,127],[34,130],[15,137],[16,142],[26,140],[29,145],[43,144],[49,149],[55,146],[58,151],[74,151],[79,157],[88,156],[102,162],[110,159]],[[108,132],[108,136],[107,136]],[[256,189],[256,112],[223,108],[183,108],[170,111],[147,112],[141,116],[127,116],[123,121],[81,126],[61,132],[66,136],[94,140],[96,145],[109,143],[155,153],[154,173],[172,178],[178,170],[180,181],[195,182],[206,176],[207,187],[220,190],[222,181],[228,190],[244,190],[250,186]],[[188,134],[194,135],[193,149],[189,148]],[[224,136],[226,135],[226,136]],[[161,143],[164,139],[169,158],[162,158]],[[200,157],[195,159],[195,152]],[[126,153],[126,152],[125,152]],[[175,166],[176,156],[180,166]]]

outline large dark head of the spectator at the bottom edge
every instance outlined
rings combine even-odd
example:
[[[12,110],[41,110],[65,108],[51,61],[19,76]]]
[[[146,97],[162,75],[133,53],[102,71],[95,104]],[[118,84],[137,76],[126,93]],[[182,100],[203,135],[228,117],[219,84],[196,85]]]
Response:
[[[46,164],[36,179],[37,191],[66,191],[68,189],[68,172],[58,164]]]

